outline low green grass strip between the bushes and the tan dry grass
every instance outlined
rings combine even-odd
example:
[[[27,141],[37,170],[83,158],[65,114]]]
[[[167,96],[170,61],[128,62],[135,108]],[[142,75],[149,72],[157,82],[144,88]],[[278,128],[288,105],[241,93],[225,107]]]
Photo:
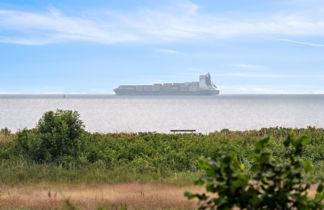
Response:
[[[76,168],[64,169],[54,164],[33,164],[24,161],[0,162],[0,183],[66,183],[66,184],[116,184],[124,182],[161,183],[177,186],[191,185],[200,175],[199,172],[170,172],[167,176],[158,173],[137,173],[127,171],[125,167],[114,169]]]

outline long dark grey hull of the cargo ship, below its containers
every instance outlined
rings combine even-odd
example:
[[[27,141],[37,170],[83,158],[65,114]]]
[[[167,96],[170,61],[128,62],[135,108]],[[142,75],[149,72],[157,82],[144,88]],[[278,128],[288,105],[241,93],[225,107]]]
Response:
[[[116,95],[128,96],[208,96],[218,95],[219,90],[198,90],[198,91],[134,91],[114,90]]]

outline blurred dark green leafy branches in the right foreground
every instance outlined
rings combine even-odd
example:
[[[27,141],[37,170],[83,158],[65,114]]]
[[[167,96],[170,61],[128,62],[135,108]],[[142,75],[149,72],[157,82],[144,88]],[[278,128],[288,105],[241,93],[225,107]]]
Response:
[[[185,192],[185,196],[198,198],[199,209],[323,209],[323,183],[315,197],[308,195],[312,166],[301,159],[308,138],[289,134],[284,141],[286,159],[280,162],[269,152],[271,141],[264,138],[256,143],[251,173],[235,153],[201,161],[205,175],[195,184],[205,185],[207,193]]]

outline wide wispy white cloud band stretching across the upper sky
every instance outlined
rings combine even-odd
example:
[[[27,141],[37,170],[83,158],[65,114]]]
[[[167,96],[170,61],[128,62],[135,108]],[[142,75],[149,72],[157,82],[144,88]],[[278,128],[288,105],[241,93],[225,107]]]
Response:
[[[172,8],[142,8],[128,13],[107,11],[78,17],[67,16],[56,8],[49,8],[47,12],[0,10],[0,41],[47,44],[82,40],[112,44],[212,40],[242,35],[324,35],[324,16],[317,13],[249,14],[247,18],[246,14],[204,14],[199,5],[190,1],[181,2],[175,3]],[[281,41],[321,46],[290,39]]]

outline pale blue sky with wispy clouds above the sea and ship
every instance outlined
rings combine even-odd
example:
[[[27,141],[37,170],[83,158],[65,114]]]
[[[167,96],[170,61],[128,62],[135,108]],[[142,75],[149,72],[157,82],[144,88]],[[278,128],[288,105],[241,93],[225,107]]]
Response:
[[[0,0],[0,93],[324,94],[323,0]]]

